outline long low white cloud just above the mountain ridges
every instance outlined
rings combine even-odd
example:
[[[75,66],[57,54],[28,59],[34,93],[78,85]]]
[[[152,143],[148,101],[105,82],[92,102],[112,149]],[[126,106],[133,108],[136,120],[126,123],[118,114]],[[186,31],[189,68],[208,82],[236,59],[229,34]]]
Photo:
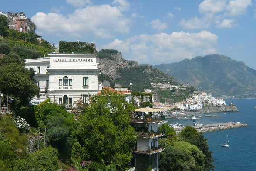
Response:
[[[129,52],[123,53],[124,58],[129,56],[139,63],[155,65],[216,53],[217,40],[216,34],[207,31],[173,32],[172,34],[142,34],[125,41],[115,39],[103,47],[115,48],[120,52],[123,52],[122,49],[128,49]]]

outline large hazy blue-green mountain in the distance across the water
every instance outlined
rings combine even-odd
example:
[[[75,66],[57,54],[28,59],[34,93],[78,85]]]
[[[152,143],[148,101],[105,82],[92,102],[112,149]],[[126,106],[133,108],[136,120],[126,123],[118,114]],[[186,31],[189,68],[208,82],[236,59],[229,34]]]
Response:
[[[256,97],[256,70],[225,55],[197,56],[153,67],[172,75],[179,83],[190,84],[214,96]]]

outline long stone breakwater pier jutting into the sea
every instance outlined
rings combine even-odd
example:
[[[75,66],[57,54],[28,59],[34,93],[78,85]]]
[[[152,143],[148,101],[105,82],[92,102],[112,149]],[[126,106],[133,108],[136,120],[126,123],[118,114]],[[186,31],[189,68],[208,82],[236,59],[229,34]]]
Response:
[[[233,123],[233,122],[228,122],[228,123],[213,123],[213,124],[207,124],[207,125],[200,125],[200,126],[192,126],[194,127],[197,132],[212,132],[212,131],[219,131],[219,130],[224,130],[224,129],[232,129],[232,128],[240,128],[240,127],[246,127],[249,126],[246,123]],[[182,128],[175,128],[175,131],[179,133]]]

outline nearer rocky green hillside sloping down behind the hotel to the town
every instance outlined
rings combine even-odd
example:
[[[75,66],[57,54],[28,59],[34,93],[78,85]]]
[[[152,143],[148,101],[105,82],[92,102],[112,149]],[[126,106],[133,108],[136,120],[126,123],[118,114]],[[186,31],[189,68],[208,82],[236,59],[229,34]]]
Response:
[[[107,49],[103,49],[100,52],[104,52],[104,55],[99,55],[100,64],[98,68],[101,69],[101,73],[104,76],[100,74],[98,76],[99,81],[114,81],[115,84],[130,87],[134,91],[152,89],[151,82],[178,84],[173,77],[157,68],[152,68],[150,65],[139,66],[136,61],[125,60],[118,51],[115,52],[113,49],[107,51]],[[111,57],[106,54],[111,55]]]

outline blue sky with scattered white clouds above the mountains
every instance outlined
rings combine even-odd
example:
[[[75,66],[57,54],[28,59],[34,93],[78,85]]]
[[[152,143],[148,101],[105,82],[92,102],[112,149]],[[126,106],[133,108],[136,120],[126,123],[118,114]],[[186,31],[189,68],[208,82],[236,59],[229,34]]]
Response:
[[[256,0],[0,0],[36,33],[96,42],[123,58],[158,65],[219,53],[256,69]]]

